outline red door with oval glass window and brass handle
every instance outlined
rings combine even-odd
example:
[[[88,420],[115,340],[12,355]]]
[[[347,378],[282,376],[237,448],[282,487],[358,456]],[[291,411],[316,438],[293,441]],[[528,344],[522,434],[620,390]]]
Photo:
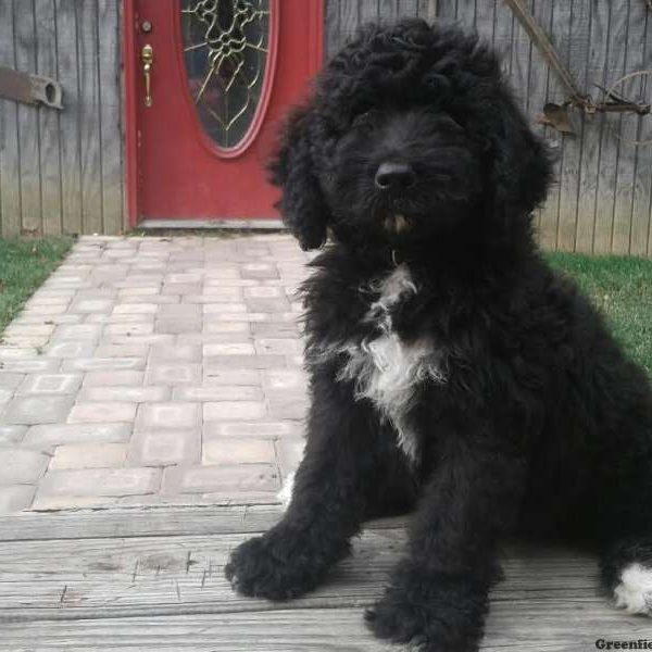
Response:
[[[322,64],[323,9],[323,0],[127,0],[131,225],[277,217],[264,163],[279,120]]]

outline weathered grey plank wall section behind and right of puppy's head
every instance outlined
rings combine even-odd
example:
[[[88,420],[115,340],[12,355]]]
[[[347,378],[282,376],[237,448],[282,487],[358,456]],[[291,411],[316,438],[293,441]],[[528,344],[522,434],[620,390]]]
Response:
[[[528,0],[580,89],[595,99],[626,73],[652,70],[652,11],[645,0]],[[547,101],[566,91],[503,0],[328,0],[327,51],[366,21],[419,15],[476,28],[503,55],[505,74],[535,122]],[[652,98],[652,77],[636,77],[620,95]],[[537,126],[556,158],[556,178],[538,215],[548,249],[652,255],[650,233],[652,115],[572,116],[576,136]]]

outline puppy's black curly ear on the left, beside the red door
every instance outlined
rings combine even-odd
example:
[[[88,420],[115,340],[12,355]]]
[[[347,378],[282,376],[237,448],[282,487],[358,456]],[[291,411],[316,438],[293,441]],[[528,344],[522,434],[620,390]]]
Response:
[[[328,208],[315,166],[321,141],[318,128],[310,106],[294,111],[268,165],[272,183],[283,189],[276,208],[303,250],[322,247],[327,236]]]

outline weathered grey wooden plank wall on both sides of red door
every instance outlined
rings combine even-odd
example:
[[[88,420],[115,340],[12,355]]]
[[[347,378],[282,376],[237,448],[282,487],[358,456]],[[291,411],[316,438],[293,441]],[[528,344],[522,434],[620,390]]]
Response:
[[[626,73],[652,68],[645,0],[527,3],[578,86],[595,98],[595,85],[609,88]],[[58,78],[65,104],[58,112],[0,100],[0,235],[122,230],[121,4],[0,0],[0,65]],[[503,0],[327,0],[327,51],[361,23],[403,15],[475,27],[502,53],[532,123],[547,101],[565,99]],[[652,78],[636,77],[617,90],[650,101]],[[537,218],[542,243],[652,255],[652,147],[629,142],[652,139],[652,116],[575,113],[572,120],[575,136],[536,126],[556,154],[557,183]]]

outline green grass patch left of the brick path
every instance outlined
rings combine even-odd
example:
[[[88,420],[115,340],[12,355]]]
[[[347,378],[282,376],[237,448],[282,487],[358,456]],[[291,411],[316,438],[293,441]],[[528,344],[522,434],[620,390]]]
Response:
[[[72,238],[0,239],[0,335],[72,244]]]

